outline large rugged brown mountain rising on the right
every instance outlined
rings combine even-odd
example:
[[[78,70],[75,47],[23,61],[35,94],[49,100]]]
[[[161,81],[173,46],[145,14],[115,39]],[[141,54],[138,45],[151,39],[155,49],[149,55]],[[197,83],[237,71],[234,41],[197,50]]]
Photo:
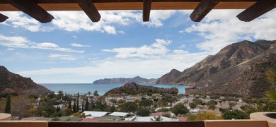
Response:
[[[181,72],[178,78],[164,80],[168,77],[163,75],[159,80],[163,84],[203,86],[193,90],[195,94],[263,97],[272,85],[264,73],[268,68],[276,68],[275,63],[276,41],[243,41],[207,56]]]

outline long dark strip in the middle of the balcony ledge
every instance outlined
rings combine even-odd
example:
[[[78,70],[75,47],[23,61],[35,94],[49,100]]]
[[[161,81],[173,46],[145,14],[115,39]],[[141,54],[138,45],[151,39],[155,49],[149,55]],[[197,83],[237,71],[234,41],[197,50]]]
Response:
[[[204,121],[185,122],[52,122],[48,127],[205,127]]]

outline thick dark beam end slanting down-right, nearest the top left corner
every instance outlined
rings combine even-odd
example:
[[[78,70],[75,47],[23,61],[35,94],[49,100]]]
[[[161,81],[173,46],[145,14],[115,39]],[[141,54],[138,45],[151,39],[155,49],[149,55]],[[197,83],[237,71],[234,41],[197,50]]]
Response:
[[[50,13],[41,8],[33,0],[6,0],[12,6],[27,13],[29,16],[40,21],[40,23],[48,23],[54,19]]]

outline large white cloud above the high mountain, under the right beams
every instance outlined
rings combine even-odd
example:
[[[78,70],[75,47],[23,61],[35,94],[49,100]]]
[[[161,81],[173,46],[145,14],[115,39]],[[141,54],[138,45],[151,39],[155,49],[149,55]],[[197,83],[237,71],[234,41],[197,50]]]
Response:
[[[242,10],[213,10],[200,22],[185,29],[185,32],[197,32],[205,42],[197,44],[212,54],[228,44],[239,40],[275,40],[276,9],[265,13],[251,22],[242,22],[236,18]]]

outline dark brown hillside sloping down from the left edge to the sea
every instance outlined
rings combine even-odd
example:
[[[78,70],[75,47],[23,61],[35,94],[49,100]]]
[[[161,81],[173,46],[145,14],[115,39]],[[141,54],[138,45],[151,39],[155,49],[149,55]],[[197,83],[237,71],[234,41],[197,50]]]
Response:
[[[16,93],[18,95],[44,95],[50,93],[46,87],[36,84],[30,78],[11,73],[0,66],[0,93]]]

